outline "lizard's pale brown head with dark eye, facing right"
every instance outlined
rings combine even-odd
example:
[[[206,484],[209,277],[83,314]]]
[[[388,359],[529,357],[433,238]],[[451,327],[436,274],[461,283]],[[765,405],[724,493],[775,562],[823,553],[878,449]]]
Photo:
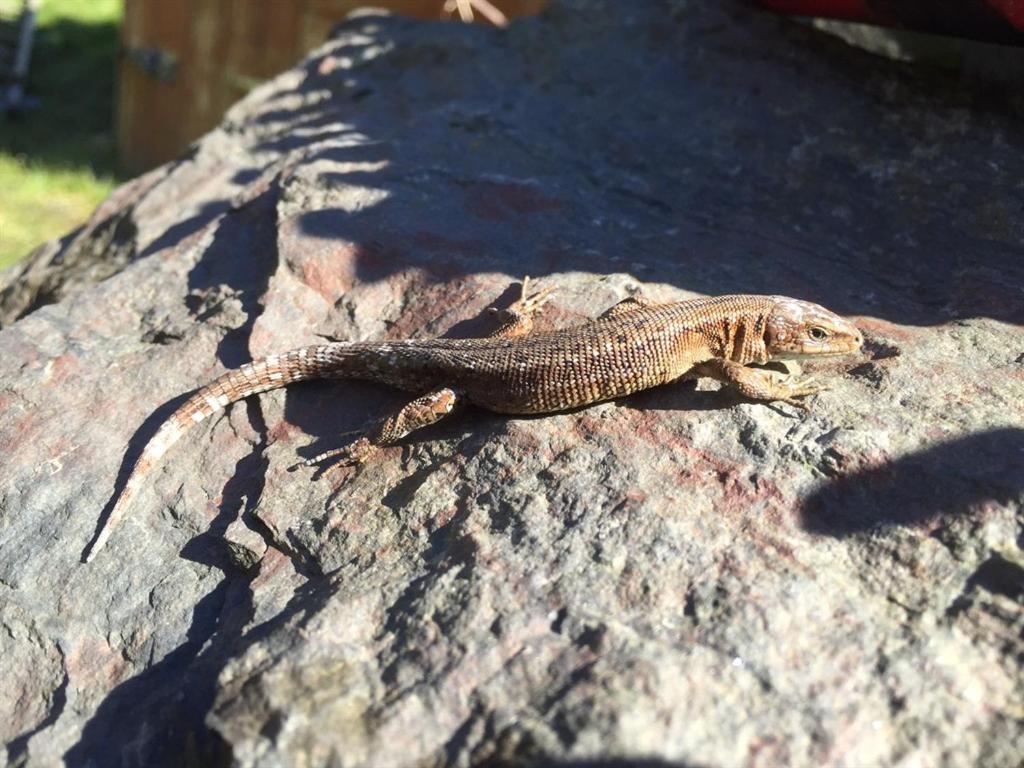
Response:
[[[765,327],[769,359],[848,354],[864,341],[857,327],[819,304],[776,297]]]

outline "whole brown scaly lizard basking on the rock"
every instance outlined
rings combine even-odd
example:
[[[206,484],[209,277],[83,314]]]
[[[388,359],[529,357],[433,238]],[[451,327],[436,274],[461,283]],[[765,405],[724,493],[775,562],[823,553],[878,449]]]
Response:
[[[534,318],[552,293],[530,293],[529,279],[523,280],[519,299],[508,309],[490,308],[500,322],[488,336],[333,341],[270,355],[214,379],[146,443],[85,561],[103,547],[146,474],[189,428],[232,402],[295,382],[364,379],[415,393],[366,435],[301,462],[361,465],[464,402],[500,414],[550,414],[709,377],[751,399],[807,410],[800,398],[824,386],[813,377],[781,376],[751,364],[847,354],[863,342],[856,326],[818,304],[752,294],[676,302],[631,296],[583,325],[535,332]]]

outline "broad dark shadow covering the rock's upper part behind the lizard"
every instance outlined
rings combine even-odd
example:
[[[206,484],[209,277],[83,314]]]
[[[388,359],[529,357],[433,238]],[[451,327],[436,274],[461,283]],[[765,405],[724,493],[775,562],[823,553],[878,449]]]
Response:
[[[444,136],[441,126],[431,126],[438,131],[434,158],[409,156],[402,147],[409,137],[385,119],[380,99],[367,99],[354,114],[346,111],[345,119],[354,118],[352,125],[376,140],[367,147],[379,147],[381,140],[390,145],[390,166],[373,173],[326,172],[323,182],[372,186],[389,197],[356,215],[332,208],[308,211],[299,217],[301,231],[324,242],[356,244],[358,279],[364,282],[409,268],[422,269],[437,281],[492,269],[534,275],[629,270],[644,281],[705,294],[794,295],[841,313],[908,325],[972,316],[1024,322],[1018,296],[1024,286],[1024,253],[1009,236],[989,237],[974,213],[987,205],[990,191],[990,179],[979,165],[990,154],[981,136],[944,137],[948,145],[942,152],[949,156],[947,168],[956,168],[954,178],[920,178],[931,170],[925,164],[900,171],[903,175],[892,183],[871,175],[879,167],[907,165],[914,146],[929,140],[931,125],[970,109],[972,94],[963,84],[942,73],[879,59],[778,19],[749,22],[743,16],[734,27],[716,29],[699,41],[703,49],[715,49],[716,56],[721,56],[719,48],[736,44],[737,70],[723,74],[720,85],[701,81],[699,68],[694,74],[696,65],[684,52],[659,49],[658,55],[680,66],[616,59],[621,72],[614,75],[595,66],[574,71],[572,87],[546,82],[547,89],[571,91],[574,95],[567,97],[580,99],[580,111],[564,116],[541,112],[544,99],[553,96],[532,91],[521,72],[513,69],[502,82],[500,74],[484,67],[466,66],[462,71],[467,82],[460,84],[460,95],[471,99],[487,88],[502,92],[510,117],[499,109],[476,123],[453,116]],[[415,48],[407,25],[372,18],[351,20],[345,28],[373,27],[375,36],[393,34],[399,46]],[[687,39],[677,34],[680,42]],[[671,41],[667,33],[666,48]],[[583,45],[574,52],[583,56],[586,51]],[[347,52],[343,48],[338,54]],[[442,63],[426,67],[457,69],[462,55],[455,46]],[[379,59],[375,68],[386,72],[388,59]],[[737,84],[738,70],[754,59],[759,63]],[[331,76],[314,76],[317,63],[307,71],[311,79],[332,88],[336,104],[374,87],[359,70],[345,73],[354,84],[337,87]],[[687,77],[695,78],[696,87],[688,87],[694,83]],[[638,83],[649,84],[649,90]],[[732,97],[730,83],[740,87],[744,98]],[[580,97],[588,88],[620,104],[614,125],[606,125],[595,105],[599,99]],[[794,89],[802,94],[787,106],[796,116],[776,119],[772,104],[788,103]],[[675,94],[672,103],[663,100],[658,106],[660,120],[679,126],[675,132],[662,131],[650,121],[655,110],[648,93],[663,91]],[[899,100],[885,95],[890,91]],[[411,104],[418,101],[417,94],[400,89],[394,97]],[[897,127],[873,133],[886,111]],[[694,114],[701,120],[684,117]],[[1000,121],[1006,128],[1016,124],[1010,116],[990,117],[991,130],[1000,130]],[[332,120],[337,117],[324,113],[307,124]],[[863,126],[870,136],[869,152],[859,139],[834,131],[837,120]],[[443,140],[454,136],[501,145],[531,122],[543,126],[549,142],[560,147],[564,168],[552,167],[549,175],[525,180],[517,175],[523,173],[517,168],[520,159],[500,151],[446,166],[445,153],[454,150]],[[800,143],[794,136],[798,126],[815,146],[813,161],[799,171],[799,184],[785,169],[786,158]],[[623,145],[631,152],[607,152]],[[372,154],[373,148],[359,152]],[[315,157],[343,161],[345,155],[357,154],[351,147],[329,147]],[[723,175],[724,162],[743,172]],[[686,173],[672,172],[680,164]],[[589,174],[580,173],[588,166],[593,166]],[[417,174],[420,178],[414,178]],[[1013,180],[1007,176],[1000,184],[1000,197],[1009,204]],[[580,194],[564,194],[573,185],[586,189],[584,197],[593,199],[595,210],[578,209]],[[433,189],[432,196],[424,195],[427,188]],[[602,229],[590,225],[585,218],[590,216],[594,221],[620,217],[632,223]],[[474,243],[480,244],[475,252]]]

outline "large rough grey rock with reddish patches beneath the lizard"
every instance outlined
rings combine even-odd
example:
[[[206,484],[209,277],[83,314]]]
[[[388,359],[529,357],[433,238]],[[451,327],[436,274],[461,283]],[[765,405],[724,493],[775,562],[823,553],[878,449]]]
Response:
[[[347,22],[5,278],[0,759],[1018,765],[1022,127],[731,3]],[[296,452],[400,395],[267,394],[80,564],[183,393],[322,335],[471,335],[524,273],[551,324],[780,293],[867,349],[809,415],[471,411],[315,482]]]

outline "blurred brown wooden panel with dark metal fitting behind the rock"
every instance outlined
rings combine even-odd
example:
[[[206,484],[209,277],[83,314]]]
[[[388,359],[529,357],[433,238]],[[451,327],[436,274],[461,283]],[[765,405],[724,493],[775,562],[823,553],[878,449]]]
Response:
[[[547,0],[492,0],[510,18]],[[142,171],[176,157],[354,8],[439,18],[443,0],[125,0],[118,146]]]

